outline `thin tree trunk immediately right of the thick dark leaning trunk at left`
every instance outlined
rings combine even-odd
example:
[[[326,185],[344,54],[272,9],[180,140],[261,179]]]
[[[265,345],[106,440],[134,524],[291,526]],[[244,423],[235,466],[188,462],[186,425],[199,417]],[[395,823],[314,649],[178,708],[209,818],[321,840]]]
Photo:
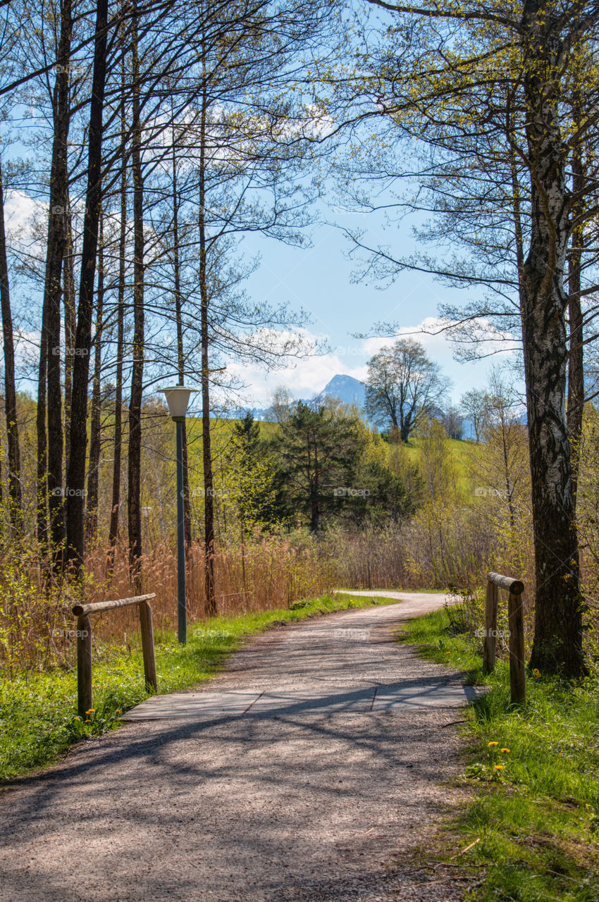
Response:
[[[88,495],[86,498],[86,543],[97,534],[97,488],[101,450],[101,374],[102,328],[104,318],[104,221],[100,214],[100,243],[97,253],[96,336],[94,338],[94,381],[91,392],[91,424],[89,432]]]

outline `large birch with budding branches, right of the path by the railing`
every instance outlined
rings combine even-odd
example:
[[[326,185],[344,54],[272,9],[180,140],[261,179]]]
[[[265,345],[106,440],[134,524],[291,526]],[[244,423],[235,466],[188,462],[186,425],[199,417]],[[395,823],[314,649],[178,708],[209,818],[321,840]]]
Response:
[[[519,8],[477,0],[468,9],[455,0],[426,7],[372,2],[394,14],[394,24],[367,72],[360,58],[354,102],[372,98],[372,115],[382,116],[393,135],[386,145],[401,143],[398,176],[406,172],[407,149],[414,163],[408,178],[419,182],[418,193],[386,206],[426,211],[419,237],[440,250],[437,257],[422,251],[407,258],[374,248],[374,266],[388,279],[413,267],[452,285],[481,286],[483,297],[465,308],[441,308],[447,325],[471,345],[520,329],[536,566],[530,664],[579,676],[584,599],[566,418],[569,345],[575,350],[576,339],[567,334],[565,272],[573,228],[590,227],[596,216],[594,168],[581,185],[571,166],[576,147],[584,144],[592,158],[599,138],[593,63],[599,11],[554,0],[523,0]],[[388,179],[392,170],[378,163]],[[590,268],[580,297],[596,290],[592,245],[583,248]],[[576,254],[570,259],[576,266]]]

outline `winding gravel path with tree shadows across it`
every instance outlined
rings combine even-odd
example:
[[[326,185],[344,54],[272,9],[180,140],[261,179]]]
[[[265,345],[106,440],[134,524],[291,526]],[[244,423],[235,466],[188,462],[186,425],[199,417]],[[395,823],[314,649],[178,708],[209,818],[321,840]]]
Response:
[[[444,596],[380,594],[401,604],[264,633],[205,687],[277,704],[128,723],[6,789],[1,902],[459,898],[402,866],[456,800],[461,683],[392,628]]]

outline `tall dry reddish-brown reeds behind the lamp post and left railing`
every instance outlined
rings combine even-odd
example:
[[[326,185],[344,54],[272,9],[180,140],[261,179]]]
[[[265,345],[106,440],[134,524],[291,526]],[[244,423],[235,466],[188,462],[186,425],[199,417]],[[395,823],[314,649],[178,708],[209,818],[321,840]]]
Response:
[[[14,549],[13,549],[14,552]],[[217,611],[234,616],[288,607],[299,599],[326,592],[335,582],[331,562],[317,543],[295,535],[255,538],[239,546],[217,548]],[[152,548],[142,560],[143,593],[153,592],[152,620],[159,634],[177,625],[177,560],[166,545]],[[187,564],[189,622],[205,617],[203,548],[194,542]],[[94,548],[86,560],[82,593],[86,602],[127,598],[135,594],[124,543],[115,548],[112,567],[106,549]],[[31,669],[70,666],[76,648],[77,622],[71,607],[78,587],[58,581],[36,551],[5,553],[0,560],[0,667],[7,676]],[[96,651],[106,644],[136,641],[136,606],[92,617]],[[135,638],[134,638],[135,637]]]

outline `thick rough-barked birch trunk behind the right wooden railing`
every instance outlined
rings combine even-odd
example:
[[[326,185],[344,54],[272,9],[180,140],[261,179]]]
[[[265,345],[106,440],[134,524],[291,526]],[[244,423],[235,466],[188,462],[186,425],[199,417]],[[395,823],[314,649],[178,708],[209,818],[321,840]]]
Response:
[[[557,36],[525,0],[522,25],[531,166],[530,251],[521,296],[535,546],[536,616],[530,659],[541,672],[584,673],[575,504],[566,424],[567,189],[558,127]]]

